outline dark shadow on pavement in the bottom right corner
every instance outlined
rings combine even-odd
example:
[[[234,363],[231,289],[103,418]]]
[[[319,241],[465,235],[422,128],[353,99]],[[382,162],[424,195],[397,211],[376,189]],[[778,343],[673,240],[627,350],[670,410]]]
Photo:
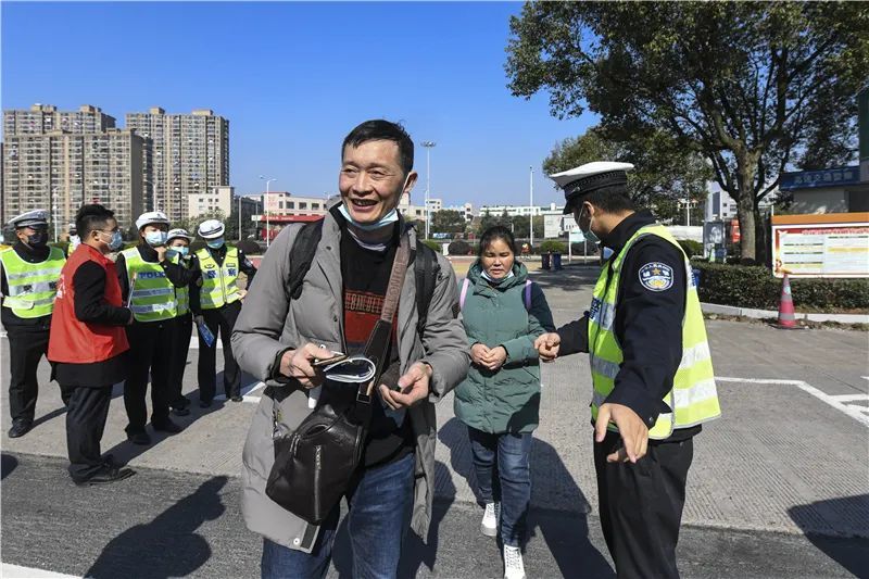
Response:
[[[788,514],[818,550],[856,577],[869,578],[869,494],[792,506]]]

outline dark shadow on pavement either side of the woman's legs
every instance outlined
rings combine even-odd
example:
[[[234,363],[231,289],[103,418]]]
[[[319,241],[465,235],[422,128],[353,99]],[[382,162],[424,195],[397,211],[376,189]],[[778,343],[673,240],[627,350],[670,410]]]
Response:
[[[453,471],[464,477],[476,494],[477,480],[470,458],[467,427],[458,418],[452,418],[439,430],[438,438],[451,451]],[[538,532],[542,534],[563,577],[612,577],[614,574],[609,563],[589,540],[589,502],[558,452],[551,444],[534,438],[530,463],[531,509],[528,516],[528,537],[536,537]],[[543,468],[545,471],[541,471]],[[541,509],[541,501],[536,500],[540,496],[547,502],[557,499],[558,503],[553,505],[553,509]]]

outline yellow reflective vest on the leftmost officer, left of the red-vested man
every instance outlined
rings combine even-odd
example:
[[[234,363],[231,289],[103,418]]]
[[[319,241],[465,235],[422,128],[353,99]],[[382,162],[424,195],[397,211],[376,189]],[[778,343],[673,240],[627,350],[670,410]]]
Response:
[[[0,253],[0,261],[9,285],[3,307],[11,309],[13,314],[26,319],[50,315],[54,310],[58,279],[66,263],[63,252],[58,248],[49,248],[45,262],[29,263],[10,249]]]

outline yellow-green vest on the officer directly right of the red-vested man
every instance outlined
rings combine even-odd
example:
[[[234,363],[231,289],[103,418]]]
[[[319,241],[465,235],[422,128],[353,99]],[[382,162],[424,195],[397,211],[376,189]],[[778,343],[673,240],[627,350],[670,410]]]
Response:
[[[160,322],[175,317],[175,287],[159,263],[142,260],[139,250],[123,252],[127,280],[133,291],[129,309],[137,322]]]

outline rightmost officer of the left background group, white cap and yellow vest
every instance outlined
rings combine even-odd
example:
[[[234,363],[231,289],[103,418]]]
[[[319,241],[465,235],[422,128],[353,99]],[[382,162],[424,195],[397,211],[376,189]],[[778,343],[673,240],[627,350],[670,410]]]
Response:
[[[199,226],[199,236],[205,240],[205,248],[197,252],[202,270],[202,287],[191,286],[193,313],[197,324],[204,323],[211,332],[221,340],[224,347],[224,390],[226,398],[232,402],[241,402],[241,375],[232,356],[232,328],[241,312],[241,300],[247,290],[238,287],[238,273],[248,276],[248,287],[253,282],[256,268],[238,248],[227,247],[224,242],[224,224],[217,219],[207,219]],[[199,311],[201,307],[201,312]],[[216,343],[211,348],[199,335],[199,405],[206,408],[211,405],[217,390],[215,376]]]

